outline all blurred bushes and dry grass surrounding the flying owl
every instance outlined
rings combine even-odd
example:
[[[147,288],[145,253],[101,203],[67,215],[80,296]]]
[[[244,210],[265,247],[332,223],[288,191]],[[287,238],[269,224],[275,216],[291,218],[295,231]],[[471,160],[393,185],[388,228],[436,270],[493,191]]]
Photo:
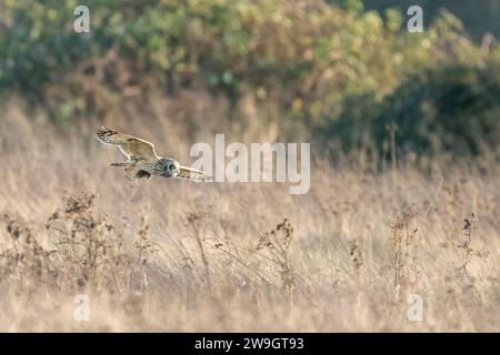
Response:
[[[0,329],[497,332],[497,1],[404,3],[0,0]],[[101,124],[311,142],[311,189],[136,183]]]

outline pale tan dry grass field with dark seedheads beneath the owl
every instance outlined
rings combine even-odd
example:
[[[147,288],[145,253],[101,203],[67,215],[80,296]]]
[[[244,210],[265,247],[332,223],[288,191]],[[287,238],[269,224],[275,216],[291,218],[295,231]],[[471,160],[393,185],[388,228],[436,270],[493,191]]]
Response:
[[[323,168],[307,195],[281,184],[134,185],[107,166],[118,153],[91,139],[101,122],[66,128],[64,138],[4,112],[1,331],[499,328],[496,164],[436,162],[428,174]],[[190,143],[210,139],[154,122],[111,126],[184,161]],[[81,293],[89,322],[73,317]],[[423,298],[422,322],[407,318],[410,294]]]

